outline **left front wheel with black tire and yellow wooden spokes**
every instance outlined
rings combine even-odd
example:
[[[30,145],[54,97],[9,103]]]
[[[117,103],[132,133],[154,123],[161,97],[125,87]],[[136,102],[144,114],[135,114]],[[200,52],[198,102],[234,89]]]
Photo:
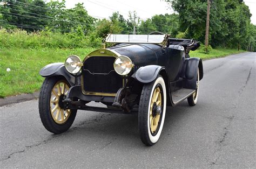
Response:
[[[39,115],[48,131],[62,133],[70,128],[77,110],[64,108],[63,100],[70,88],[66,79],[60,77],[45,78],[39,94]]]

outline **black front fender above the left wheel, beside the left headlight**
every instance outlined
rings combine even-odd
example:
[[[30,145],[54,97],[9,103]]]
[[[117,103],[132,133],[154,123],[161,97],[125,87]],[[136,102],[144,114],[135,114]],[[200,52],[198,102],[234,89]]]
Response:
[[[39,74],[44,78],[52,76],[64,76],[64,78],[70,83],[71,86],[75,85],[75,76],[66,71],[64,63],[53,63],[43,67]],[[78,78],[78,83],[80,78]]]

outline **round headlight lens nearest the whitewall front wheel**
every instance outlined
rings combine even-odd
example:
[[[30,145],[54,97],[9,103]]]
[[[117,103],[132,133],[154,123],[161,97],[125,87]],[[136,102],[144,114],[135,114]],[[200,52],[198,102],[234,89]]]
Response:
[[[119,75],[127,75],[132,70],[132,61],[130,58],[125,56],[120,56],[114,61],[114,71]]]

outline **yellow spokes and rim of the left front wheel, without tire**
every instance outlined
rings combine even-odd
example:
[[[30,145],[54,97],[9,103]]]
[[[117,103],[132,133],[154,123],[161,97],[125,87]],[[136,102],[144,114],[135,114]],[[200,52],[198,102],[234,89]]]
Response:
[[[71,110],[63,108],[63,98],[69,90],[68,84],[60,80],[51,91],[50,110],[53,120],[57,124],[63,124],[70,116]]]

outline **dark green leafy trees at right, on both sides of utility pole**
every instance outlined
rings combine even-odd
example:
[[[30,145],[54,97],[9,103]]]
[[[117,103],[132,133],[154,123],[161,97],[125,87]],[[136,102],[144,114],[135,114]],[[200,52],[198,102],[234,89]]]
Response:
[[[187,38],[200,41],[205,39],[207,13],[206,0],[167,0],[179,13],[179,30],[189,28]],[[255,46],[251,24],[251,13],[241,0],[211,1],[209,40],[213,47],[238,47],[246,50],[248,45]]]

